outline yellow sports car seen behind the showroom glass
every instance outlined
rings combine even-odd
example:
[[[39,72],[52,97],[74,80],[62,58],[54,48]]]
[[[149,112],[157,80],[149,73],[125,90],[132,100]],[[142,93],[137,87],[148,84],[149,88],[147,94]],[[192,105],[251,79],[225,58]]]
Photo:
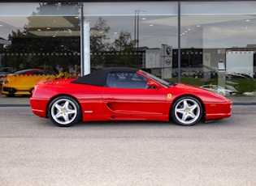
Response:
[[[8,74],[2,82],[2,94],[31,95],[35,83],[45,79],[55,79],[56,75],[50,71],[41,69],[20,70]]]

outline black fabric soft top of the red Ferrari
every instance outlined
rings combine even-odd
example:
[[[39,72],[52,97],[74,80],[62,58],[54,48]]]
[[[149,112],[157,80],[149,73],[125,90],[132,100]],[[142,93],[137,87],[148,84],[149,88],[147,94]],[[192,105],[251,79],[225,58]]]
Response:
[[[107,75],[111,72],[137,72],[138,69],[131,67],[107,67],[102,70],[97,70],[91,74],[77,78],[73,83],[89,84],[94,86],[104,87],[106,85]]]

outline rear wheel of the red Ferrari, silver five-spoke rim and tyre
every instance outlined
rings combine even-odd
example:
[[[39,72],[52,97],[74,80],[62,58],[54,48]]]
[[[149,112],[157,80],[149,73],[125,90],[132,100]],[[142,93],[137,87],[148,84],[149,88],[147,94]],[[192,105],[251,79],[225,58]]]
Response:
[[[48,114],[55,125],[69,127],[80,120],[80,106],[72,97],[59,96],[50,102]]]

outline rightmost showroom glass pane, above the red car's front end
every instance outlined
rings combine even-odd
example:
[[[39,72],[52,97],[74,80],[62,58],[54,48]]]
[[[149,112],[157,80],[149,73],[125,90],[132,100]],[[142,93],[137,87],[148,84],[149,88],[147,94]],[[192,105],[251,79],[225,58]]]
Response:
[[[234,102],[254,97],[254,7],[246,1],[180,3],[182,82],[219,85]]]

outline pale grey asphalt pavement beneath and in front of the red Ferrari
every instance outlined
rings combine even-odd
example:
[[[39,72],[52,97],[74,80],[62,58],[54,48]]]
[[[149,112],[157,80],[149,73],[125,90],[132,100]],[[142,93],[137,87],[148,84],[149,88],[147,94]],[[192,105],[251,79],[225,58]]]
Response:
[[[3,186],[256,185],[256,106],[190,127],[86,122],[70,128],[0,107]]]

